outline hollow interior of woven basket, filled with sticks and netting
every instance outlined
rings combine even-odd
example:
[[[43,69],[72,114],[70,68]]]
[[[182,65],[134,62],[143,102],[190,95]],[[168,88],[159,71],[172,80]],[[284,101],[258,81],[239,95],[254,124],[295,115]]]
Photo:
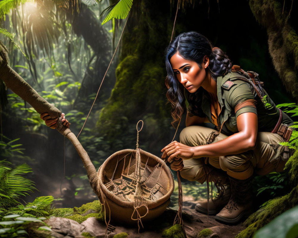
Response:
[[[115,156],[105,167],[103,184],[122,201],[135,202],[136,193],[145,201],[156,201],[169,189],[162,165],[137,151]],[[137,192],[136,192],[137,190]]]

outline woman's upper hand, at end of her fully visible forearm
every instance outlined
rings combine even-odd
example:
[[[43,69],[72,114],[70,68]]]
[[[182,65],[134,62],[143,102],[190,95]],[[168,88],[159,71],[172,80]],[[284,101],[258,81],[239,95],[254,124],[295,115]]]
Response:
[[[192,159],[194,156],[193,147],[184,145],[177,141],[173,141],[172,143],[168,144],[162,150],[162,159],[167,158],[168,162],[172,162],[175,157],[179,157],[181,159]]]

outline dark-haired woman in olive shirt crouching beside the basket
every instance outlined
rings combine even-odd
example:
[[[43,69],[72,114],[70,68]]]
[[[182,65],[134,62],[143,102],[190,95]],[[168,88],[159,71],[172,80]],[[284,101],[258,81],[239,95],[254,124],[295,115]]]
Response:
[[[265,91],[256,92],[239,66],[233,67],[221,49],[212,48],[196,32],[180,34],[166,50],[173,123],[188,105],[180,143],[164,147],[162,158],[168,157],[171,168],[185,179],[215,182],[218,196],[209,200],[209,214],[226,223],[237,223],[250,213],[254,174],[283,170],[290,153],[279,142],[291,134],[283,124],[292,123]],[[214,129],[198,126],[206,122],[220,132],[213,142],[206,140],[214,136]],[[195,209],[207,214],[208,201]]]

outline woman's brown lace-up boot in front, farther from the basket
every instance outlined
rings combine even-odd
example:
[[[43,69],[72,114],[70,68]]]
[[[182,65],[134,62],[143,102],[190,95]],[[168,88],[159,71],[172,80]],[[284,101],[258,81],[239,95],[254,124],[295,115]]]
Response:
[[[252,213],[252,177],[239,180],[230,177],[232,196],[228,204],[215,216],[219,222],[235,224]]]

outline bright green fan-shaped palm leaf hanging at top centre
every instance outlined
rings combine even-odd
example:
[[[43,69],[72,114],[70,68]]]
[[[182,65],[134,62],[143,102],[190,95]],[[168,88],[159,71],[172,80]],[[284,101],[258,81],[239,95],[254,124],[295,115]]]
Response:
[[[102,25],[110,21],[112,18],[124,19],[127,18],[129,11],[131,10],[133,0],[119,0],[117,3],[112,4],[103,10],[102,14],[108,12]]]

